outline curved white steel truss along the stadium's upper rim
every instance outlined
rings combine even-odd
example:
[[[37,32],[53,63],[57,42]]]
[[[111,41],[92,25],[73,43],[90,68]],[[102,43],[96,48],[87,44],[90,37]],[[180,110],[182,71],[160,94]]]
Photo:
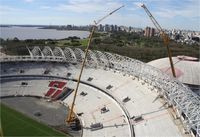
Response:
[[[44,47],[41,50],[37,46],[32,50],[29,49],[29,51],[31,51],[32,56],[5,56],[0,58],[0,62],[56,61],[80,63],[84,57],[84,51],[79,48],[61,49],[55,47],[54,50],[51,50],[50,47]],[[141,61],[108,52],[90,50],[86,66],[120,71],[148,82],[159,89],[158,91],[165,97],[168,104],[173,105],[184,117],[187,128],[195,130],[197,135],[200,136],[200,97],[177,79]]]

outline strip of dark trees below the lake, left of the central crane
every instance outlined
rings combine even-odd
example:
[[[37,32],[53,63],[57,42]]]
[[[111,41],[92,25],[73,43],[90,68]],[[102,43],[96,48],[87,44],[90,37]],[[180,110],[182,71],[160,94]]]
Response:
[[[76,36],[68,37],[65,39],[26,39],[19,40],[17,37],[13,39],[2,39],[0,38],[0,43],[2,47],[2,52],[8,55],[29,55],[27,47],[32,48],[34,46],[70,46],[77,47],[81,46],[79,42],[80,38]]]

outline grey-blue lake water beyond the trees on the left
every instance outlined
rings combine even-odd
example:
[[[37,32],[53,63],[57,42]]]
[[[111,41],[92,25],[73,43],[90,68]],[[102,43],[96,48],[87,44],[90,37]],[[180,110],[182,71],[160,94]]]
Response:
[[[87,38],[88,31],[38,29],[37,27],[0,27],[0,37],[3,39],[63,39],[69,36]]]

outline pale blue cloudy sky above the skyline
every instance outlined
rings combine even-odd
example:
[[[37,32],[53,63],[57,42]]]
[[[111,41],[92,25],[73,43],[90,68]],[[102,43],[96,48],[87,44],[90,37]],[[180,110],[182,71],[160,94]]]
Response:
[[[125,5],[102,24],[153,26],[140,3],[163,28],[200,30],[200,0],[0,0],[0,24],[88,25]]]

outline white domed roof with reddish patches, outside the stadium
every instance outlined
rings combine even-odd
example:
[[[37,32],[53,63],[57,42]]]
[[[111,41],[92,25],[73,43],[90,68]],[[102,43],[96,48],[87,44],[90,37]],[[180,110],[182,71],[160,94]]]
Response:
[[[200,62],[197,58],[188,56],[173,57],[176,77],[179,81],[200,86]],[[148,62],[166,74],[172,75],[168,58],[161,58]]]

